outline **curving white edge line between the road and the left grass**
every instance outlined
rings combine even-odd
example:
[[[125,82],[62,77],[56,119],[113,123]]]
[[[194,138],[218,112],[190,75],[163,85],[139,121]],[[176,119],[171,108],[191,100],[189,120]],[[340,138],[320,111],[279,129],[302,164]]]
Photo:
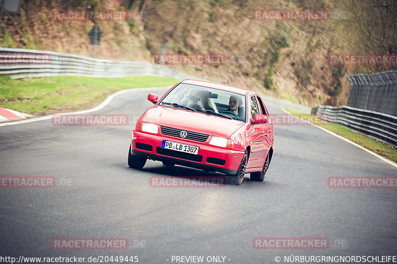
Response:
[[[118,91],[110,96],[108,96],[105,101],[103,101],[101,104],[99,104],[98,106],[95,106],[94,108],[91,109],[87,109],[87,110],[81,110],[81,111],[77,111],[77,112],[68,112],[68,113],[62,113],[62,114],[79,114],[79,113],[89,113],[89,112],[94,112],[94,111],[98,111],[100,109],[102,109],[103,107],[109,105],[109,103],[118,95],[124,94],[124,93],[128,93],[131,91],[147,91],[147,90],[153,90],[153,89],[161,89],[161,88],[171,88],[171,86],[161,86],[161,87],[149,87],[149,88],[131,88],[131,89],[127,89],[127,90],[122,90],[122,91]],[[36,121],[41,121],[41,120],[47,120],[47,119],[51,119],[51,117],[54,114],[49,114],[49,115],[45,115],[45,116],[40,116],[40,117],[35,117],[35,118],[30,118],[30,119],[24,119],[24,120],[20,120],[20,121],[13,121],[13,122],[7,122],[7,123],[0,123],[0,126],[9,126],[9,125],[18,125],[18,124],[24,124],[24,123],[30,123],[30,122],[36,122]]]

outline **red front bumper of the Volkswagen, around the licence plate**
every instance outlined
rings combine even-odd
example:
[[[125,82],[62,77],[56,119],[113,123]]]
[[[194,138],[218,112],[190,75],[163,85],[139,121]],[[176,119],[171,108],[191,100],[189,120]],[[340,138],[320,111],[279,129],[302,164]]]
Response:
[[[207,142],[209,139],[210,137],[208,137],[206,142],[197,142],[133,130],[131,155],[146,156],[153,160],[169,161],[206,171],[217,171],[229,175],[236,174],[244,152],[208,145]],[[163,140],[197,146],[199,147],[199,153],[198,155],[194,155],[163,149],[161,148]]]

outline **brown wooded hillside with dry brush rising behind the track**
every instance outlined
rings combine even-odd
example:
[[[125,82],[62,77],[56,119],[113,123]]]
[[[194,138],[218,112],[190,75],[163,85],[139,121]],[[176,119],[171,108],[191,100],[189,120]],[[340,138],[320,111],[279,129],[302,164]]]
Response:
[[[140,16],[98,22],[96,57],[148,61],[150,53],[224,53],[224,65],[177,65],[194,76],[308,106],[346,104],[346,74],[393,66],[332,66],[331,53],[397,53],[394,0],[22,0],[4,13],[0,46],[90,56],[92,21],[54,21],[54,9],[127,9]],[[254,9],[327,9],[326,21],[257,21]],[[339,15],[338,15],[339,14]],[[341,14],[341,15],[340,15]]]

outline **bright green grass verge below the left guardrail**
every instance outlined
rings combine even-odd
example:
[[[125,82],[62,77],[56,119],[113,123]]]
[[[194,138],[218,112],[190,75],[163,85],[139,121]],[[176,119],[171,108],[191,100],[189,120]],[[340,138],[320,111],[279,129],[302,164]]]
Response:
[[[24,79],[0,76],[0,106],[34,115],[81,110],[98,105],[116,91],[169,86],[178,81],[173,78],[153,76],[123,78],[59,76]]]

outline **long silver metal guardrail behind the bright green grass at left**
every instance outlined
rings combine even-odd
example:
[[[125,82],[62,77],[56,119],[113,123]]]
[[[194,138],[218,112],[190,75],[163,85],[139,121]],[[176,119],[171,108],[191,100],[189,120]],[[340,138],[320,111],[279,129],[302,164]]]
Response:
[[[45,63],[25,63],[21,56],[47,55]],[[6,63],[9,55],[19,56],[20,63]],[[25,59],[27,61],[27,59]],[[5,61],[5,63],[1,63]],[[159,76],[175,79],[199,79],[177,72],[164,65],[138,61],[113,61],[95,59],[75,54],[36,51],[25,49],[0,48],[0,75],[9,75],[13,79],[25,77],[85,76],[85,77],[126,77]],[[200,80],[200,79],[199,79]]]

